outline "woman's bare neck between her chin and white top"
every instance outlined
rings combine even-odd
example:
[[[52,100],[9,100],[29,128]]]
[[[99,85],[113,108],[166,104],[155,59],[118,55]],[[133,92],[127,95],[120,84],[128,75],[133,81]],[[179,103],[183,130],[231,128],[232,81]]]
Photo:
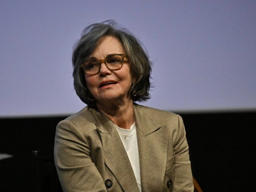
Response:
[[[97,107],[119,128],[129,129],[135,121],[132,100],[109,105],[97,103]]]

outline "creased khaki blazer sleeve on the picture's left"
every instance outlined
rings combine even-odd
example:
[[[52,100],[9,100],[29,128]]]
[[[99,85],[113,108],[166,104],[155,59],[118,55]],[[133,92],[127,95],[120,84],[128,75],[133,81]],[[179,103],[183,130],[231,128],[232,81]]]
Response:
[[[90,143],[80,129],[69,120],[61,121],[56,128],[54,156],[64,192],[106,192],[90,154]]]

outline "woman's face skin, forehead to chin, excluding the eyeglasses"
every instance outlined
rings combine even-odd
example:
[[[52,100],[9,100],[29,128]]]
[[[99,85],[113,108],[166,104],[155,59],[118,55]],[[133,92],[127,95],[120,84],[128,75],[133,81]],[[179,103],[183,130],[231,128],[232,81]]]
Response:
[[[123,46],[115,37],[102,37],[99,46],[91,57],[97,60],[106,58],[110,54],[126,54]],[[104,63],[101,63],[100,73],[88,76],[85,74],[85,81],[91,95],[96,99],[97,104],[104,105],[106,102],[128,101],[128,94],[132,78],[127,58],[123,66],[117,71],[110,71]]]

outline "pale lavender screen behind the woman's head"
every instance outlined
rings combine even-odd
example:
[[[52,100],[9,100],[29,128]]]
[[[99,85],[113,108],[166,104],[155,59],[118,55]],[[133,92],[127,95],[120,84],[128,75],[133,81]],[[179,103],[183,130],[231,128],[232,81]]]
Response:
[[[154,62],[163,110],[256,109],[255,0],[1,0],[0,116],[71,114],[72,47],[92,22],[115,19]]]

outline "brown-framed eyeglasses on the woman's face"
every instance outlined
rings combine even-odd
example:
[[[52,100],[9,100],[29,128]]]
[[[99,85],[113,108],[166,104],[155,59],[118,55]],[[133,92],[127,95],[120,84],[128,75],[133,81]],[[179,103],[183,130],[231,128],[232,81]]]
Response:
[[[108,55],[105,59],[87,60],[85,61],[85,63],[80,64],[80,67],[82,67],[84,73],[89,76],[100,73],[102,63],[104,63],[110,71],[116,71],[123,66],[125,57],[126,57],[125,54],[111,54],[111,55]]]

